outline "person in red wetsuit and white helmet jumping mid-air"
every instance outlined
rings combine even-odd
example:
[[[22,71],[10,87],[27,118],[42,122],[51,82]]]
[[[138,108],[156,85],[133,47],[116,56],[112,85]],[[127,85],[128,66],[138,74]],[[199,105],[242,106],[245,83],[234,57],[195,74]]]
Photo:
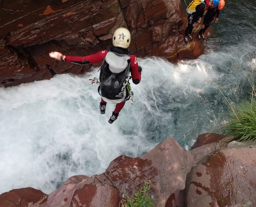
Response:
[[[95,64],[102,62],[100,71],[100,113],[105,114],[106,104],[116,104],[112,116],[108,120],[113,123],[125,101],[129,99],[127,84],[130,78],[134,84],[141,81],[141,67],[138,66],[135,55],[130,54],[130,31],[126,28],[118,28],[113,35],[113,46],[88,56],[69,56],[60,52],[50,52],[49,55],[59,61],[67,61],[75,64]],[[130,77],[131,73],[131,77]],[[99,89],[98,89],[99,91]]]

